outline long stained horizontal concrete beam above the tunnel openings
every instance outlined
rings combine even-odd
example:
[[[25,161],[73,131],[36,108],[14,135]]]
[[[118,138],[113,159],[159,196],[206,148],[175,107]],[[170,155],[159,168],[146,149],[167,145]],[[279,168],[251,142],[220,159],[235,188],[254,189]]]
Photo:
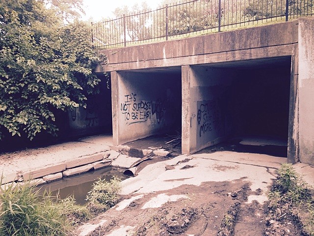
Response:
[[[280,36],[279,36],[280,35]],[[105,71],[259,59],[294,54],[298,21],[237,29],[166,42],[103,50]]]

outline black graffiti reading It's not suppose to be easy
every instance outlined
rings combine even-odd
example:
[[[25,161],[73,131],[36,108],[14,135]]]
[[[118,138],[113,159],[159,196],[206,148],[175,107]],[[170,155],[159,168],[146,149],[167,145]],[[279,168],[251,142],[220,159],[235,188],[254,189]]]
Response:
[[[131,120],[132,123],[145,122],[156,114],[157,122],[159,123],[166,110],[163,102],[160,99],[157,99],[156,102],[136,100],[136,96],[136,93],[125,95],[126,99],[120,105],[124,120]]]

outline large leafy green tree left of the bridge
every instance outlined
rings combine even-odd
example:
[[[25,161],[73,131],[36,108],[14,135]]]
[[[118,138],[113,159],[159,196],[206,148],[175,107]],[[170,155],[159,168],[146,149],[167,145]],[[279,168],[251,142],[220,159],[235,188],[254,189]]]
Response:
[[[0,138],[9,132],[32,140],[44,130],[56,135],[56,110],[84,106],[100,81],[90,27],[64,24],[59,13],[69,11],[56,7],[0,0]]]

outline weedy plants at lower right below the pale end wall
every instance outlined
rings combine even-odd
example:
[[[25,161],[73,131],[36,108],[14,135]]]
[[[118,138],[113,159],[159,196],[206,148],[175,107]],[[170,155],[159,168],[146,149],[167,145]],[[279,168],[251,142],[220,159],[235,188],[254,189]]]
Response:
[[[270,226],[287,218],[299,227],[302,235],[314,236],[314,191],[291,164],[283,164],[278,171],[269,199]]]

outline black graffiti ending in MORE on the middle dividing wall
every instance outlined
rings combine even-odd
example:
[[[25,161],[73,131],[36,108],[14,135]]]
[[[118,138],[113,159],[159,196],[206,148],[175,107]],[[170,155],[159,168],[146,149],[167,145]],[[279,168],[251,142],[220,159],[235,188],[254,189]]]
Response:
[[[199,136],[209,132],[219,132],[222,129],[221,112],[213,100],[203,101],[198,106],[197,124]]]

